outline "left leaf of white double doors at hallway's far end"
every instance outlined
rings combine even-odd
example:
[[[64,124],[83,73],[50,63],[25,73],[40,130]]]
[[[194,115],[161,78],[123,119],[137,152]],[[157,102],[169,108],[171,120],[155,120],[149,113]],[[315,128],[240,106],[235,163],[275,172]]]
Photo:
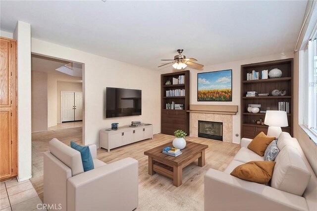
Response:
[[[61,92],[61,122],[68,122],[75,120],[74,113],[74,92]]]

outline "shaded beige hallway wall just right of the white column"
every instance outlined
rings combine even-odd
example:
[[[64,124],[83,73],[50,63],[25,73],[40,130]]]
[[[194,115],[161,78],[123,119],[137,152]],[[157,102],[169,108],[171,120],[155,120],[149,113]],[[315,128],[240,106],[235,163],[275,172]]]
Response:
[[[32,71],[32,132],[48,130],[48,74]]]

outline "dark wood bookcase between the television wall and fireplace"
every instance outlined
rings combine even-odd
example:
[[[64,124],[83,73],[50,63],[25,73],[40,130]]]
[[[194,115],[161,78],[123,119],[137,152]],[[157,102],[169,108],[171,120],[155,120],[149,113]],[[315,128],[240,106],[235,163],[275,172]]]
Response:
[[[184,76],[182,84],[165,85],[166,81],[173,82],[173,78]],[[167,91],[177,93],[184,90],[182,96],[167,96]],[[161,75],[161,133],[174,135],[174,131],[181,129],[189,134],[189,70]],[[166,104],[182,104],[183,110],[166,109]]]

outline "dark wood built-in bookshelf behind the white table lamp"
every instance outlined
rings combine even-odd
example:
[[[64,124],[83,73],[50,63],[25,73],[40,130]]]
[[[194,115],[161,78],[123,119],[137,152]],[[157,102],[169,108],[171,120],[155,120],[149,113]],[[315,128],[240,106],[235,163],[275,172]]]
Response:
[[[274,68],[282,71],[281,78],[262,79],[262,74],[266,74],[264,70],[269,72]],[[255,73],[256,76],[252,77]],[[250,77],[253,80],[250,80]],[[285,90],[286,94],[272,96],[274,89]],[[268,96],[247,96],[248,91],[257,92],[259,95],[267,93]],[[288,127],[282,127],[282,130],[293,135],[293,59],[241,65],[241,137],[254,138],[261,131],[266,134],[268,126],[257,124],[260,118],[264,122],[265,113],[249,113],[247,110],[249,104],[260,104],[262,112],[286,110],[287,105]]]

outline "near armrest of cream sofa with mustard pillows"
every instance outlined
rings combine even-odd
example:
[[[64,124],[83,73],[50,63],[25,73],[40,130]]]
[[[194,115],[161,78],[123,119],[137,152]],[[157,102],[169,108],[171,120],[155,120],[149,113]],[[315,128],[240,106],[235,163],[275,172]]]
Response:
[[[305,198],[209,169],[205,174],[205,211],[308,210]]]

